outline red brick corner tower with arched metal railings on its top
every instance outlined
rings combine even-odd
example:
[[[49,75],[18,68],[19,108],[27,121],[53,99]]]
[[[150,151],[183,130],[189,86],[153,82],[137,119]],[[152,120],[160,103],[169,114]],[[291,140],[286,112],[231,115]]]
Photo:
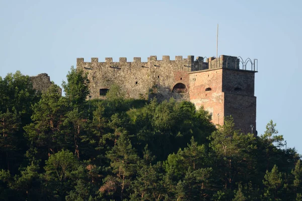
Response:
[[[190,101],[211,113],[214,124],[223,125],[224,117],[232,115],[237,129],[256,135],[257,60],[221,55],[204,63],[203,58],[196,61],[189,72]]]

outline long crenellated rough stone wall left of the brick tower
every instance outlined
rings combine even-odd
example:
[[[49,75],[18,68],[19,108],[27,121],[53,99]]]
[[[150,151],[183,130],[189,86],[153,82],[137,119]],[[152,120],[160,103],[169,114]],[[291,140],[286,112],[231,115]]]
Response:
[[[150,56],[147,62],[141,62],[140,57],[134,57],[133,62],[127,62],[123,57],[119,62],[113,62],[112,58],[105,58],[105,62],[99,62],[98,58],[92,58],[91,62],[78,58],[77,69],[88,73],[91,98],[105,98],[100,95],[100,89],[110,89],[116,83],[130,98],[157,97],[164,100],[174,97],[189,100],[188,92],[175,93],[172,89],[177,83],[189,87],[187,72],[191,70],[193,61],[194,56],[185,59],[176,56],[175,60],[170,60],[170,56],[163,56],[162,60]]]

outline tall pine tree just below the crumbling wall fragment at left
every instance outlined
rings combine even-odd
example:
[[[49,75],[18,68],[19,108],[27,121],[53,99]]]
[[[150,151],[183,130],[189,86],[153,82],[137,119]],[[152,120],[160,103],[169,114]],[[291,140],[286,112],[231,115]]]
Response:
[[[52,84],[33,107],[31,117],[33,123],[24,127],[25,137],[32,142],[32,147],[40,148],[40,152],[37,153],[38,155],[29,152],[28,156],[46,160],[62,144],[60,129],[65,119],[64,112],[67,106],[59,90],[57,85]]]

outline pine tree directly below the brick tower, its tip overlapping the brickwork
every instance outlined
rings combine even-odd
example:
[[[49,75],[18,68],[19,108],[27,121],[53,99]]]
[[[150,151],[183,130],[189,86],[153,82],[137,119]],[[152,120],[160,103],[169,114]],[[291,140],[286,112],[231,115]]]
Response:
[[[217,158],[217,171],[224,188],[233,189],[238,181],[248,182],[256,171],[256,138],[253,134],[240,134],[234,129],[233,118],[225,118],[225,124],[209,137],[210,148]],[[249,171],[247,171],[249,169]],[[237,176],[235,176],[237,175]]]

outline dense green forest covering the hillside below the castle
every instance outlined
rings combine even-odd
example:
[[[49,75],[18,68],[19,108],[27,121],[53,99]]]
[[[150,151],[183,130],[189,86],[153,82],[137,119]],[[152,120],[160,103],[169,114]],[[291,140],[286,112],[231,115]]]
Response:
[[[0,200],[302,200],[302,164],[270,121],[255,137],[216,129],[190,102],[86,100],[71,68],[46,93],[0,77]]]

